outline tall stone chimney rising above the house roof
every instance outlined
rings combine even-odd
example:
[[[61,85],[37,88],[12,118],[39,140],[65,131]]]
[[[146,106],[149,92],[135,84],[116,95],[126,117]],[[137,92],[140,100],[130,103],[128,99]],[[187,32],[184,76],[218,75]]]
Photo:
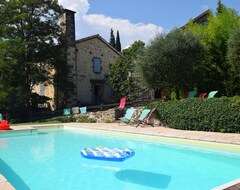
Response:
[[[66,44],[74,45],[75,43],[75,17],[74,14],[76,12],[65,9],[64,13],[61,17],[61,27],[63,33],[66,35]]]

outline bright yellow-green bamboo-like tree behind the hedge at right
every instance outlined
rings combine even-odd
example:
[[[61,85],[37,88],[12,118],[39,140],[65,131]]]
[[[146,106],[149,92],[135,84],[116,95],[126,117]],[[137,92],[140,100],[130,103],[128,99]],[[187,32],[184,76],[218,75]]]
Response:
[[[227,61],[227,41],[237,23],[237,12],[219,1],[216,16],[210,15],[206,25],[191,23],[186,27],[200,38],[206,50],[201,63],[201,88],[205,91],[218,90],[220,94],[230,94],[231,65]]]

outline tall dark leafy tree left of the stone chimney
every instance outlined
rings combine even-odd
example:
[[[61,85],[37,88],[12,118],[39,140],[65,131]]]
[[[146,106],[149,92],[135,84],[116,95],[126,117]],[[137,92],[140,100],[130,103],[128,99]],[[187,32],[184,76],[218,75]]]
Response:
[[[7,108],[1,110],[25,113],[34,85],[51,79],[59,54],[54,47],[61,39],[62,13],[56,0],[0,2],[0,68],[5,72],[0,91],[7,93],[2,102]]]

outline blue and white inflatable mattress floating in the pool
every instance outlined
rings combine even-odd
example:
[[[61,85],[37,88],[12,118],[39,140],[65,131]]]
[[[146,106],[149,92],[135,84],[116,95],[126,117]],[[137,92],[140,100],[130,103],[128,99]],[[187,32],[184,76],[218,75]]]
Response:
[[[84,158],[95,159],[95,160],[106,160],[122,162],[134,155],[134,151],[131,149],[118,149],[118,148],[107,148],[103,146],[94,148],[84,148],[81,151],[81,155]]]

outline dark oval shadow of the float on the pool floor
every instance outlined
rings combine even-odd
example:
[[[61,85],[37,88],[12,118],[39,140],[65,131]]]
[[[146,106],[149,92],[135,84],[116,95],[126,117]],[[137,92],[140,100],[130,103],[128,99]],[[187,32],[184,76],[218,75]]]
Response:
[[[166,189],[171,176],[141,170],[121,170],[115,176],[125,182],[135,183],[147,187]]]

